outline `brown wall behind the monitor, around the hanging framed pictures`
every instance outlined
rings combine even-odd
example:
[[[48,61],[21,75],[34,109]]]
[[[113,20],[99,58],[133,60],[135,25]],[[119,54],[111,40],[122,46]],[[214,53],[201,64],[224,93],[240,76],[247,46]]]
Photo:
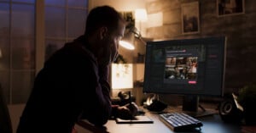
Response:
[[[149,26],[147,37],[154,40],[227,36],[225,88],[241,88],[256,83],[256,1],[245,1],[245,14],[217,15],[216,0],[199,0],[200,32],[183,35],[181,4],[195,0],[154,0],[146,3],[148,16],[162,14],[162,25]],[[160,18],[160,17],[158,17]],[[160,21],[155,19],[155,21]],[[156,23],[153,21],[148,22]]]

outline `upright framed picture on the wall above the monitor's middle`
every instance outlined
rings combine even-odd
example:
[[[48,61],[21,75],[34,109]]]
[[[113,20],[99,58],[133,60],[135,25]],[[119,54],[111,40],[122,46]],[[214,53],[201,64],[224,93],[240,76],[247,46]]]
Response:
[[[182,33],[195,34],[200,31],[199,3],[183,3],[181,5]]]

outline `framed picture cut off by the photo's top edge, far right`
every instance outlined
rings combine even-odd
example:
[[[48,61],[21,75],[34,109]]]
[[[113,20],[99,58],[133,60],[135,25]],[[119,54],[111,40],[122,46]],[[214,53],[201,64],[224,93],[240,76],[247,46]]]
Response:
[[[244,14],[244,0],[217,0],[218,16]]]

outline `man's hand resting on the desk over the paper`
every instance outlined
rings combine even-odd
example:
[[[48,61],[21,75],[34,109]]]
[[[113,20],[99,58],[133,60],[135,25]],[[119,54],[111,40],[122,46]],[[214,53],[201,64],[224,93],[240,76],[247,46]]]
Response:
[[[117,115],[116,117],[120,119],[135,119],[137,115],[137,105],[136,103],[128,103],[124,106],[120,106],[117,108]]]

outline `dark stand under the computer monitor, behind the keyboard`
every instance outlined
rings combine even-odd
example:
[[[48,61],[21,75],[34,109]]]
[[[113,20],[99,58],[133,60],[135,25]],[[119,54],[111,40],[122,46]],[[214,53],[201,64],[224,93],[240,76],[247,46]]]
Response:
[[[216,114],[216,111],[203,108],[199,104],[199,96],[183,96],[183,112],[195,118]]]

